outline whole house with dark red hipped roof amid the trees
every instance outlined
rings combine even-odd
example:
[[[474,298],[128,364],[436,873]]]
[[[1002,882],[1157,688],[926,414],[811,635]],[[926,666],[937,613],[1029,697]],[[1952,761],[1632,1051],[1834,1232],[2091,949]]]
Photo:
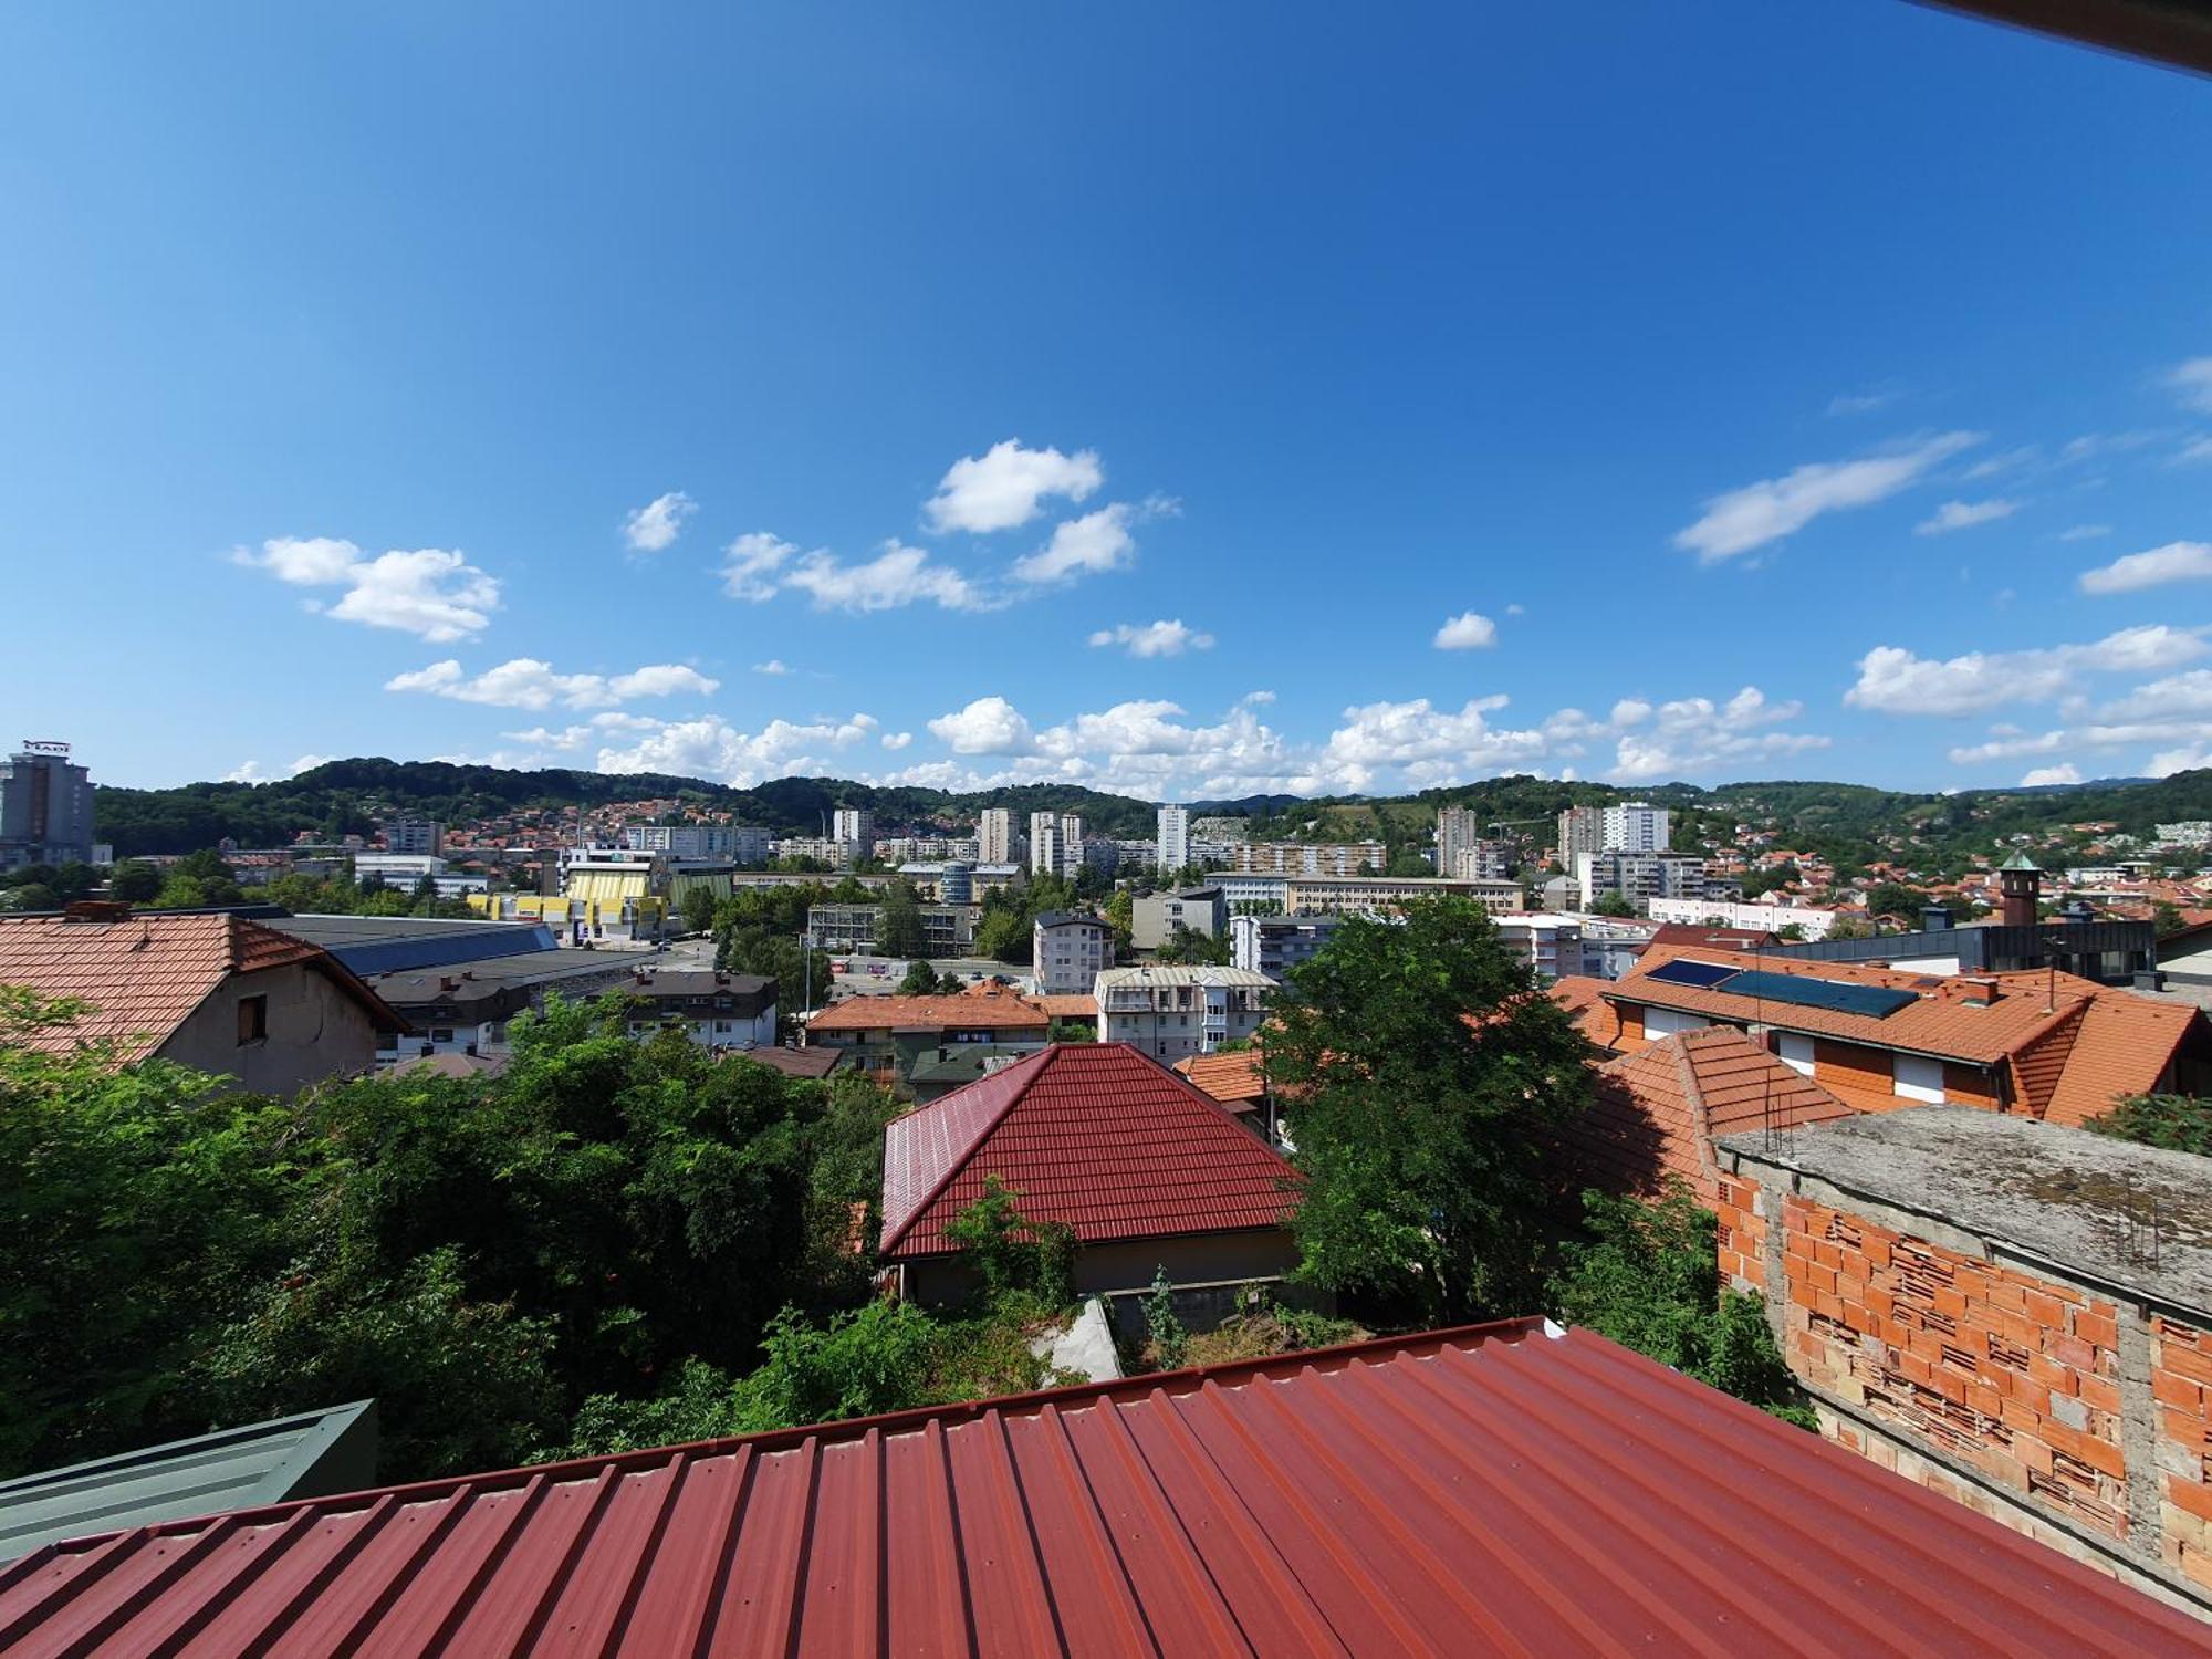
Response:
[[[900,1296],[936,1307],[978,1287],[947,1228],[993,1177],[1033,1225],[1073,1228],[1075,1294],[1126,1303],[1133,1325],[1159,1274],[1217,1287],[1230,1312],[1219,1287],[1298,1263],[1283,1155],[1126,1044],[1053,1044],[891,1119],[876,1259]]]

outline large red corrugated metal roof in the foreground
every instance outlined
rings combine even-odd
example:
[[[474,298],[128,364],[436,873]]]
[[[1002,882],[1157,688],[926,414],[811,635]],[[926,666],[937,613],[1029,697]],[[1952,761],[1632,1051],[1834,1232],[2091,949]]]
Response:
[[[261,1509],[0,1573],[60,1652],[2205,1652],[1533,1321]],[[166,1644],[166,1646],[164,1646]]]

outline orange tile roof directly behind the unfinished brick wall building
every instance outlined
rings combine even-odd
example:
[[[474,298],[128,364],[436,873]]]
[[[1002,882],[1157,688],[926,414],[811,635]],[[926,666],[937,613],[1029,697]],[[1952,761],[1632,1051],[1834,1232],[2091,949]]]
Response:
[[[1794,1128],[1858,1113],[1732,1026],[1661,1037],[1597,1068],[1597,1097],[1571,1126],[1593,1179],[1659,1192],[1668,1177],[1712,1203],[1712,1139],[1767,1124]]]

